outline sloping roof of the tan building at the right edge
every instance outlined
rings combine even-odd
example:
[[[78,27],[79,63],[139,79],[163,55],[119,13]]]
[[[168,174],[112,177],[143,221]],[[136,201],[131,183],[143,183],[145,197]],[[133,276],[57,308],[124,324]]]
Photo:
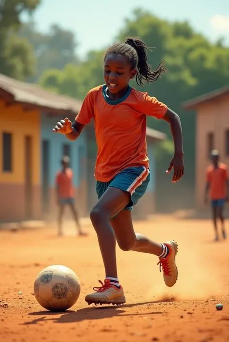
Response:
[[[219,98],[220,96],[225,95],[227,93],[229,94],[229,85],[226,85],[225,87],[216,89],[212,92],[200,95],[196,98],[192,98],[190,100],[187,100],[187,101],[182,103],[182,107],[184,109],[195,109],[201,103],[213,100],[215,98]]]

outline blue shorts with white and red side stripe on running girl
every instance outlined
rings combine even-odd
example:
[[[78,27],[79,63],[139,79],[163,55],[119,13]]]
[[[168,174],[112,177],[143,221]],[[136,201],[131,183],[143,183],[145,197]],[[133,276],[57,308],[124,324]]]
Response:
[[[122,211],[131,211],[133,210],[133,206],[136,205],[138,200],[144,195],[149,180],[150,171],[145,166],[129,167],[119,172],[108,182],[97,181],[96,193],[98,195],[98,199],[100,199],[100,197],[110,186],[129,192],[131,201],[125,208],[122,209]],[[115,216],[113,218],[115,218]]]

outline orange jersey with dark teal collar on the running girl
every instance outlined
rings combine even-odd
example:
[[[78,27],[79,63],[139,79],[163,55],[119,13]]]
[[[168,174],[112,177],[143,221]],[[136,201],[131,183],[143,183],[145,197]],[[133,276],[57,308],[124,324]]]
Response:
[[[98,153],[95,178],[107,182],[127,167],[149,167],[146,115],[161,119],[167,106],[129,87],[117,101],[109,100],[106,85],[88,92],[75,120],[86,125],[94,118]]]

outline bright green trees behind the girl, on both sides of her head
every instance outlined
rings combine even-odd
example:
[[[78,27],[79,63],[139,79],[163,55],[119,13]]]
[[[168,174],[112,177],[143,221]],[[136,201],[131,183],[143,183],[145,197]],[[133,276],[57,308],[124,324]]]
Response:
[[[128,36],[138,36],[147,46],[148,61],[155,68],[162,60],[168,72],[157,82],[146,83],[139,89],[147,91],[177,112],[184,131],[185,176],[175,187],[171,177],[166,176],[172,157],[172,138],[168,124],[148,117],[149,127],[168,134],[169,141],[157,145],[157,205],[159,210],[175,210],[194,204],[195,164],[195,114],[186,113],[182,102],[224,86],[229,80],[229,48],[222,41],[212,44],[196,33],[188,22],[168,22],[142,11],[135,10],[124,22],[116,40],[125,41]],[[40,79],[45,87],[83,99],[86,92],[103,83],[102,58],[105,51],[92,51],[80,65],[68,65],[62,71],[46,72]],[[74,87],[74,90],[72,90]],[[185,198],[185,200],[184,200]]]

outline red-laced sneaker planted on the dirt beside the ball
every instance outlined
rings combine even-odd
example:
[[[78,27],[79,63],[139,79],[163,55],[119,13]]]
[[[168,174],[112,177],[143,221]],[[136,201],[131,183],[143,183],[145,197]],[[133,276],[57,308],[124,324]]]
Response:
[[[87,294],[85,297],[88,305],[94,304],[113,304],[120,305],[126,303],[126,298],[122,286],[117,288],[111,284],[110,279],[105,279],[104,284],[99,280],[101,286],[94,287],[95,293]]]

